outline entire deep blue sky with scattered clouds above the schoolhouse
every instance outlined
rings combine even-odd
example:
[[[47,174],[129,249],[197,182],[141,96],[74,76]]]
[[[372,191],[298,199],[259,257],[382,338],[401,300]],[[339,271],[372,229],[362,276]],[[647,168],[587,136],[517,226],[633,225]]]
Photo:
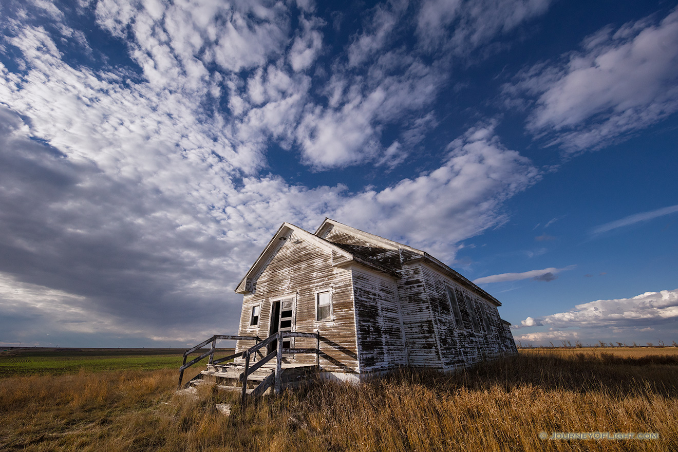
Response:
[[[184,346],[282,222],[424,249],[523,344],[678,341],[675,1],[0,5],[0,343]]]

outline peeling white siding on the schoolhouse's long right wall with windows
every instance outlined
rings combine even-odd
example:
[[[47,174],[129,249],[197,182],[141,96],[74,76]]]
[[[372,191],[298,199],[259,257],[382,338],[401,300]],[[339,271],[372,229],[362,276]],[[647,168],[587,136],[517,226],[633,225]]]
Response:
[[[449,370],[477,363],[484,358],[511,353],[513,338],[506,331],[494,304],[481,300],[449,277],[433,268],[422,266],[424,290],[431,304],[433,322],[438,333],[443,369]],[[456,293],[463,327],[457,328],[450,308],[447,287]],[[473,315],[477,321],[474,323]]]

